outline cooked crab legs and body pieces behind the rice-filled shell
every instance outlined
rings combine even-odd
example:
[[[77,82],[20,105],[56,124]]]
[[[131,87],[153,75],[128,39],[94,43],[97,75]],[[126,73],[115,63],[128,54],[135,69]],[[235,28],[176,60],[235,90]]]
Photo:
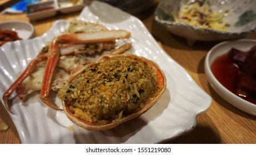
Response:
[[[99,24],[71,22],[65,34],[54,38],[43,48],[37,58],[28,64],[21,76],[3,94],[4,105],[12,112],[8,106],[8,98],[15,90],[21,100],[30,92],[40,90],[40,97],[45,104],[62,110],[49,100],[50,89],[58,91],[76,65],[89,63],[85,53],[93,54],[95,51],[113,49],[115,54],[122,53],[129,49],[131,44],[115,49],[115,40],[130,36],[131,34],[125,30],[108,30]],[[44,76],[41,76],[42,73]]]

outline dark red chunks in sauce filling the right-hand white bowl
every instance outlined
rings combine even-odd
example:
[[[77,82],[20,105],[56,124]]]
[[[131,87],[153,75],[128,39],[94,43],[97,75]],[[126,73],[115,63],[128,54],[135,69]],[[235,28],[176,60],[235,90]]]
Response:
[[[256,104],[256,46],[249,51],[232,48],[213,62],[211,70],[229,91]]]

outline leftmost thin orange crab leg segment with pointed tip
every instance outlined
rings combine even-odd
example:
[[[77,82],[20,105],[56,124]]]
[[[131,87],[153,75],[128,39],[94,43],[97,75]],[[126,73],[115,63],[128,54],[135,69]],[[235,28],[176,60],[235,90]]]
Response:
[[[15,82],[13,82],[13,84],[9,87],[9,89],[6,92],[4,92],[3,102],[4,102],[4,106],[6,106],[9,112],[13,113],[11,111],[11,108],[9,108],[8,98],[12,95],[13,91],[16,90],[18,85],[21,84],[22,81],[24,81],[37,68],[37,64],[45,60],[46,58],[47,58],[46,54],[38,55],[37,58],[35,58],[28,64],[24,72],[18,77],[18,79]]]

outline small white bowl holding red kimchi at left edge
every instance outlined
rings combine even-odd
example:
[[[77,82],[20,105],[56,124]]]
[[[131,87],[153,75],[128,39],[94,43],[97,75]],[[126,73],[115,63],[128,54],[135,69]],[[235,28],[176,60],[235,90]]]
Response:
[[[23,40],[27,40],[34,37],[33,25],[22,20],[11,20],[8,22],[1,22],[0,29],[13,30],[17,32],[18,37],[22,38]]]

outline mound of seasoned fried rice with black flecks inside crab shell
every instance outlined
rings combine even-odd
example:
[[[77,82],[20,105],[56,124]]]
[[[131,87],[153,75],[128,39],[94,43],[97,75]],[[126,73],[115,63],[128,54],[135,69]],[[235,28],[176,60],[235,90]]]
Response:
[[[59,91],[60,99],[81,120],[109,122],[130,115],[158,89],[156,70],[136,58],[117,56],[85,67]]]

